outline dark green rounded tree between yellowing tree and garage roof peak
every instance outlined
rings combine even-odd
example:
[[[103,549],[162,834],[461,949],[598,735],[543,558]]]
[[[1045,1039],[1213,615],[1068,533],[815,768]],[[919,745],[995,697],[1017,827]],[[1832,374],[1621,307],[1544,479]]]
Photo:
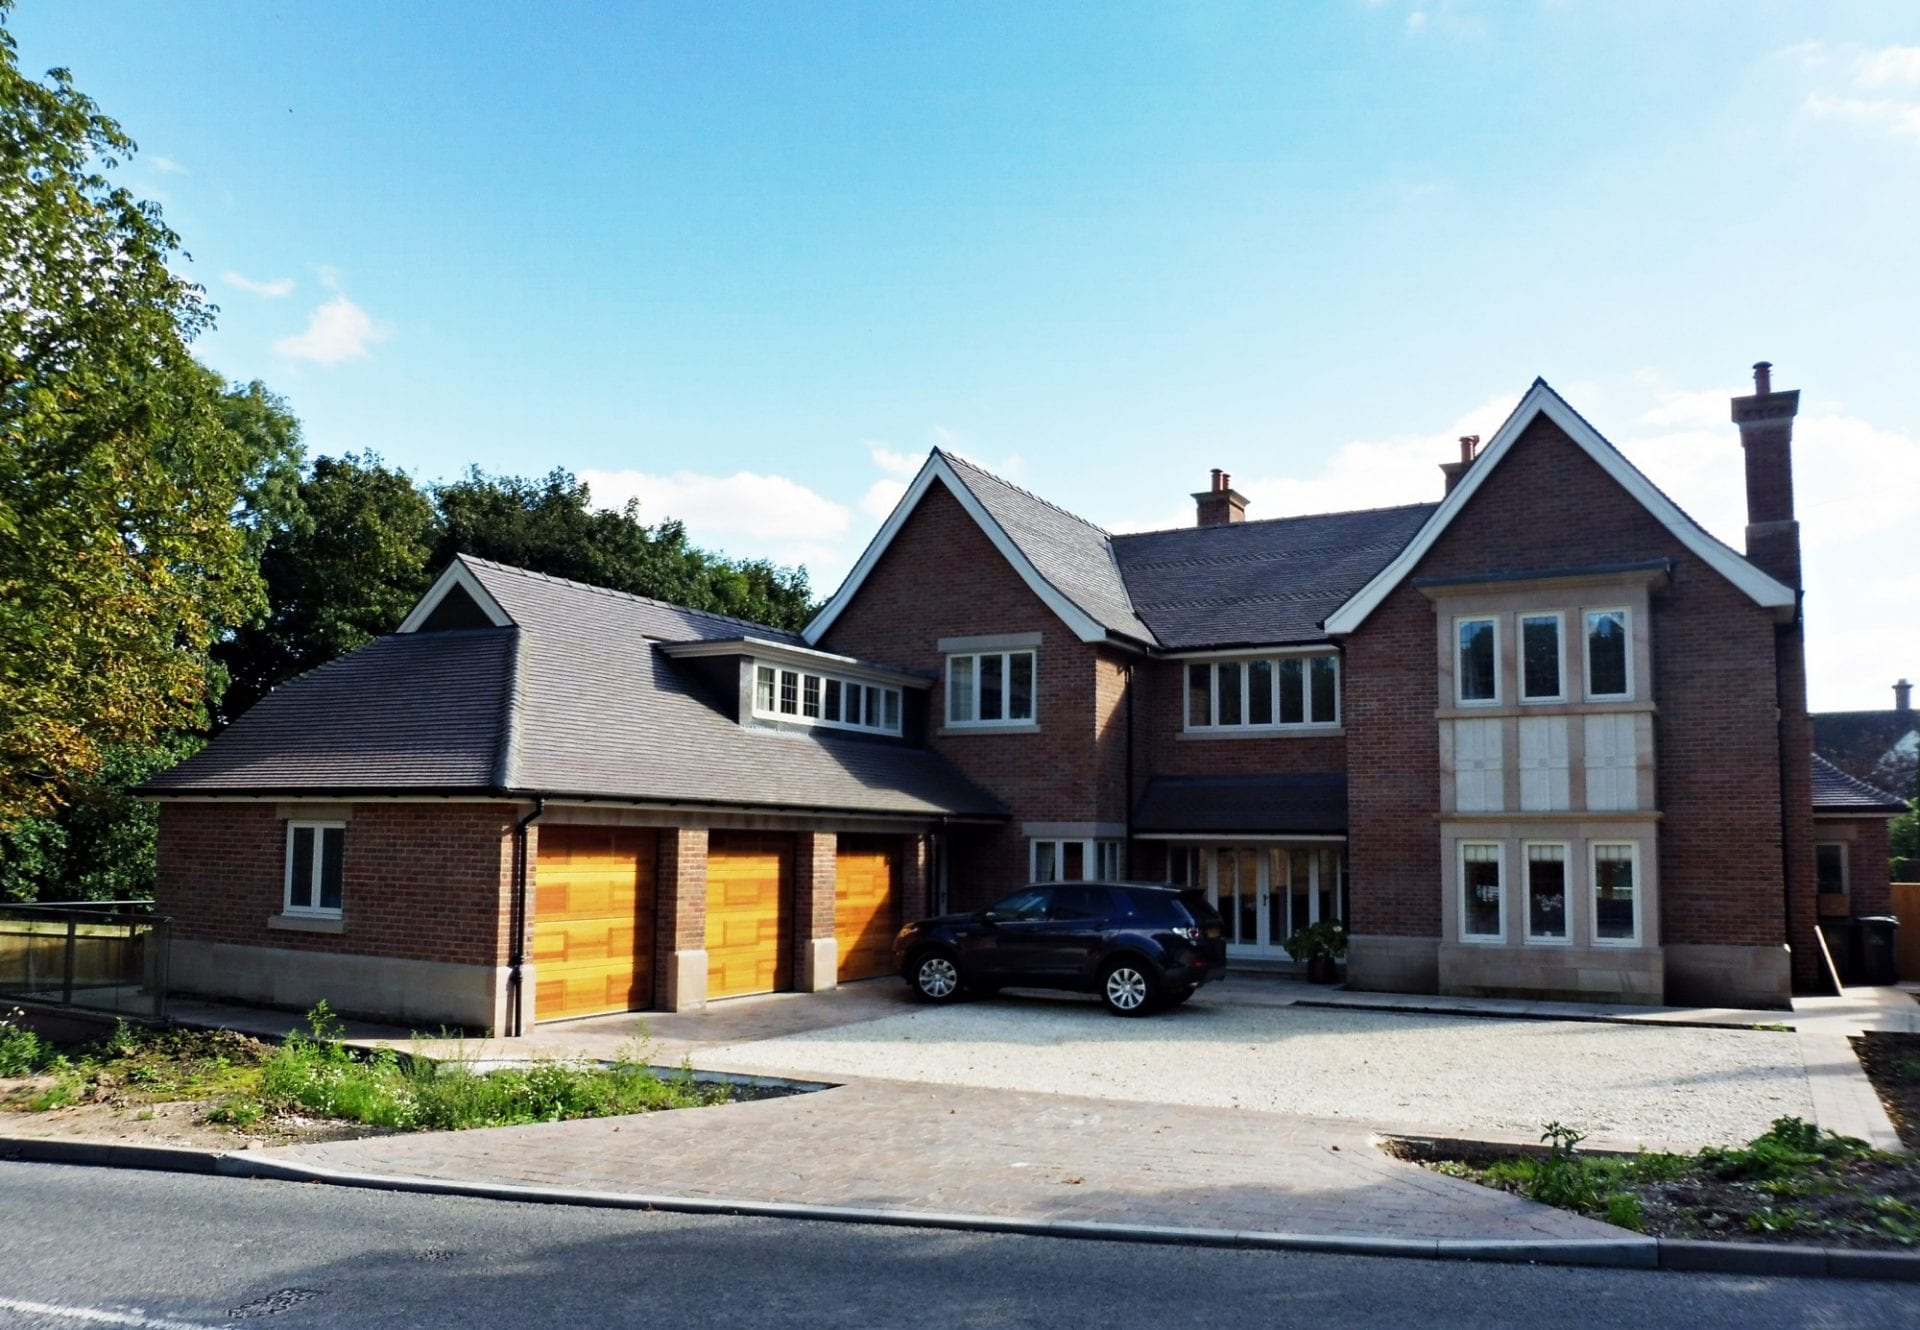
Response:
[[[232,720],[296,674],[390,633],[432,580],[434,507],[372,453],[323,457],[271,512],[267,612],[215,647]]]

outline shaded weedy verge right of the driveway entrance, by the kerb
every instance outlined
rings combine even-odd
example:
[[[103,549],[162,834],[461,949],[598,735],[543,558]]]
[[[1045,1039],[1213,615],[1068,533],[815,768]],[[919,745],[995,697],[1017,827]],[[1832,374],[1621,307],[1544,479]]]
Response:
[[[1634,1232],[1920,1246],[1920,1165],[1797,1117],[1774,1119],[1745,1146],[1692,1155],[1584,1155],[1580,1140],[1580,1132],[1548,1123],[1540,1153],[1448,1157],[1413,1146],[1400,1153]]]

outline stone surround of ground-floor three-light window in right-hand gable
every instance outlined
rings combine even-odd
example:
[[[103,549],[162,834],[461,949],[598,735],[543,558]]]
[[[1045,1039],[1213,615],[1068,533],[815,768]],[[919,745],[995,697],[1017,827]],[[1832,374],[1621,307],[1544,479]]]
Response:
[[[1553,948],[1574,952],[1615,952],[1657,948],[1659,929],[1659,819],[1649,814],[1622,814],[1617,818],[1594,816],[1555,816],[1555,818],[1513,818],[1513,819],[1475,819],[1440,823],[1440,927],[1442,940],[1463,946],[1505,946],[1505,948]],[[1500,843],[1501,844],[1501,912],[1505,923],[1503,938],[1467,937],[1461,933],[1461,843]],[[1559,843],[1567,846],[1567,938],[1528,938],[1526,937],[1526,879],[1524,844]],[[1592,877],[1592,846],[1634,844],[1636,846],[1636,902],[1634,923],[1640,937],[1636,940],[1601,940],[1596,937],[1596,902]]]

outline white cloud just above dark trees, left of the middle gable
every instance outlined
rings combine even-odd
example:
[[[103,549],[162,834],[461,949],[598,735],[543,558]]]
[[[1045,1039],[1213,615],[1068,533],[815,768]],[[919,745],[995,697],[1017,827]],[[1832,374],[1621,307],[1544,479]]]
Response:
[[[751,470],[732,476],[584,470],[580,480],[593,489],[595,505],[620,509],[628,499],[639,499],[643,522],[676,518],[693,543],[735,558],[806,564],[816,576],[843,566],[841,547],[852,528],[852,512],[787,476]]]

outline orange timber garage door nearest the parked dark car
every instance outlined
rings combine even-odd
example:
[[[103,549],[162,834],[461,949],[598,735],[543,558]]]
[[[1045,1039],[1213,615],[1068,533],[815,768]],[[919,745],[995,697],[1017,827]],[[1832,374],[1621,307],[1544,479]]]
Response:
[[[707,996],[793,986],[793,837],[707,837]]]

